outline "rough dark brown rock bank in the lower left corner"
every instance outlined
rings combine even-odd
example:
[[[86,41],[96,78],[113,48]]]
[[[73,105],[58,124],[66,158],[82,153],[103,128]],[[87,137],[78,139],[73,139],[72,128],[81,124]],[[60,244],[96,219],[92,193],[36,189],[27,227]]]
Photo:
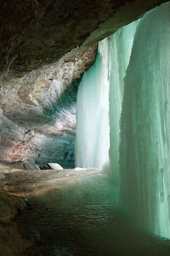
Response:
[[[23,172],[22,168],[16,168],[13,163],[0,163],[0,255],[42,256],[35,243],[23,238],[14,219],[25,211],[25,200],[18,193],[13,193],[11,187],[4,186],[8,183],[5,178],[7,173],[13,173],[17,170]],[[23,169],[25,168],[23,167]]]

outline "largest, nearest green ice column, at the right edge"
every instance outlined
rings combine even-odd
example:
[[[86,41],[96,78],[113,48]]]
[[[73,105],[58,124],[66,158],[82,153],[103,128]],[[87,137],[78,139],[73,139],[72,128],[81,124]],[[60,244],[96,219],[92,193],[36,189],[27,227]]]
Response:
[[[134,36],[124,78],[119,171],[127,213],[170,238],[170,2],[146,13]]]

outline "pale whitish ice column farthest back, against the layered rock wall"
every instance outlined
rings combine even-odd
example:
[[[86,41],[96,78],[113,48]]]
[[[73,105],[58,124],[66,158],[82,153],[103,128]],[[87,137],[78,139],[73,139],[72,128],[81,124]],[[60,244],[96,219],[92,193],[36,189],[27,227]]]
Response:
[[[77,92],[75,167],[101,167],[109,160],[107,39]]]

